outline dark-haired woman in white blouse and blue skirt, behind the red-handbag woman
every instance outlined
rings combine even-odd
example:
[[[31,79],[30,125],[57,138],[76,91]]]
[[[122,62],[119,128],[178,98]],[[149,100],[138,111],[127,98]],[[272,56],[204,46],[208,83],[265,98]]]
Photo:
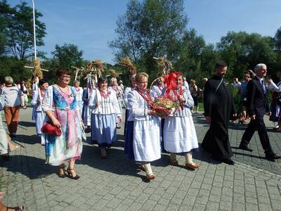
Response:
[[[98,89],[91,95],[89,108],[92,109],[91,140],[98,141],[101,158],[107,158],[106,148],[117,140],[116,119],[122,122],[116,93],[107,89],[107,79],[98,79]]]

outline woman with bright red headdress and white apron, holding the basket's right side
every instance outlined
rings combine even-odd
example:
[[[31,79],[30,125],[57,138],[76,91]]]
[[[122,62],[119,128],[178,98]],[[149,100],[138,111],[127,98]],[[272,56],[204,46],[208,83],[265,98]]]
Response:
[[[198,164],[192,161],[192,150],[198,148],[195,126],[190,108],[194,106],[190,91],[183,87],[183,74],[176,74],[177,87],[169,91],[169,98],[178,101],[181,107],[165,119],[164,148],[171,153],[171,165],[178,165],[176,153],[185,154],[185,167],[197,169]]]

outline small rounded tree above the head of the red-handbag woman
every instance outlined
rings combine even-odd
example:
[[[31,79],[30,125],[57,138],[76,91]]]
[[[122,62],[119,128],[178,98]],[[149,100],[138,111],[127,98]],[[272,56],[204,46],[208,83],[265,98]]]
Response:
[[[55,51],[52,52],[54,58],[58,59],[58,65],[72,70],[71,66],[81,67],[83,61],[83,51],[79,51],[78,46],[74,44],[55,45]]]

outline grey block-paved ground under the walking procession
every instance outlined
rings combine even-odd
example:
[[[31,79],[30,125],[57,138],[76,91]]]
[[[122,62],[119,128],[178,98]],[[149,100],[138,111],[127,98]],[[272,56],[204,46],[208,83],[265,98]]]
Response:
[[[84,143],[77,162],[78,181],[58,178],[55,167],[44,164],[44,147],[34,135],[31,109],[21,110],[15,140],[22,145],[11,153],[11,161],[0,162],[4,203],[24,203],[25,210],[281,210],[281,160],[263,159],[259,137],[250,143],[252,153],[237,147],[246,125],[230,125],[234,166],[218,163],[204,152],[195,154],[200,169],[168,165],[169,156],[152,163],[157,175],[146,181],[145,172],[124,155],[122,129],[107,160],[100,159],[97,146]],[[208,125],[194,115],[201,143]],[[273,124],[267,122],[268,126]],[[281,155],[281,133],[269,132],[276,153]],[[181,165],[184,158],[179,159]]]

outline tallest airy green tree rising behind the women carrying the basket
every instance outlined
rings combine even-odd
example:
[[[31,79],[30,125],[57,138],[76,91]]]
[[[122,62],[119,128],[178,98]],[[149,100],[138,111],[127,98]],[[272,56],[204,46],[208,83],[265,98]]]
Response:
[[[117,20],[117,38],[110,48],[117,60],[130,56],[141,69],[152,73],[157,68],[154,56],[176,58],[173,44],[183,37],[187,23],[183,0],[131,0]]]

